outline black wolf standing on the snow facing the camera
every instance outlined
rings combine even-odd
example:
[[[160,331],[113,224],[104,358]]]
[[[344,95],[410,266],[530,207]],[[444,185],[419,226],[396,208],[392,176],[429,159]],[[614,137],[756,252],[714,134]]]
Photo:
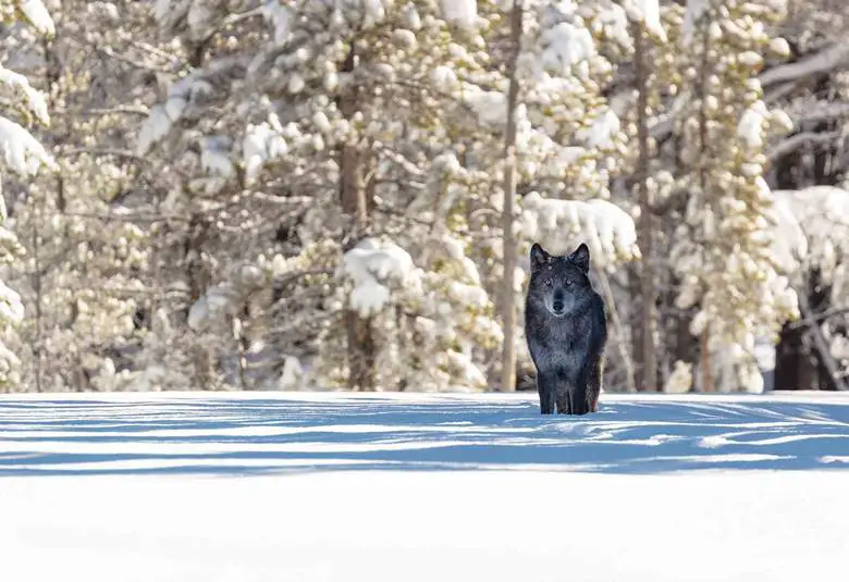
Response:
[[[540,412],[595,412],[599,406],[607,323],[604,301],[590,283],[590,249],[549,255],[534,243],[525,302],[525,336],[537,367]]]

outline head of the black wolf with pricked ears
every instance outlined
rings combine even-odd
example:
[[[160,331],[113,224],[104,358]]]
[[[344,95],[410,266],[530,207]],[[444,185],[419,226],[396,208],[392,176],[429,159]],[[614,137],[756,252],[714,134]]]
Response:
[[[541,304],[555,318],[565,318],[592,297],[590,249],[583,243],[571,255],[550,255],[539,243],[530,252],[528,301]]]

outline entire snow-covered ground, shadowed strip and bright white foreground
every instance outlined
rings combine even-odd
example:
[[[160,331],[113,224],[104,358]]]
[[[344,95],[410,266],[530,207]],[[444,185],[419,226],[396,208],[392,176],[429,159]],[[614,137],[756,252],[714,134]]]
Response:
[[[849,398],[0,397],[0,580],[844,580]]]

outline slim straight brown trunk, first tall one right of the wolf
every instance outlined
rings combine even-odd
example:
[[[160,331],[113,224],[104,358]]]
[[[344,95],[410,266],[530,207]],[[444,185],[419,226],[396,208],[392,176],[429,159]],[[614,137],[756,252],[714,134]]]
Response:
[[[654,214],[652,196],[649,191],[649,71],[645,59],[645,35],[643,25],[633,23],[633,59],[637,73],[637,140],[639,159],[637,164],[637,186],[639,187],[639,203],[642,211],[638,224],[637,240],[642,253],[640,269],[640,296],[642,297],[642,318],[639,320],[638,332],[641,335],[641,352],[637,355],[641,368],[640,389],[660,391],[657,385],[657,350],[654,345],[654,332],[657,324],[657,308],[655,307],[656,289],[654,287]]]

